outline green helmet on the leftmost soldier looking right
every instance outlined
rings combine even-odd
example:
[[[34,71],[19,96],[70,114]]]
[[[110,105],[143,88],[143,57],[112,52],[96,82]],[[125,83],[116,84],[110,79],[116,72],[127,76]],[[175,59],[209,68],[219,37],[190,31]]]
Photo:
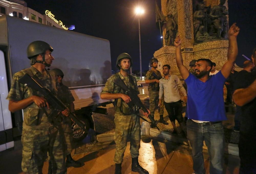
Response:
[[[45,51],[48,49],[51,52],[53,51],[52,46],[50,46],[48,43],[46,43],[44,41],[31,42],[27,48],[27,57],[30,59],[31,57],[45,53]]]

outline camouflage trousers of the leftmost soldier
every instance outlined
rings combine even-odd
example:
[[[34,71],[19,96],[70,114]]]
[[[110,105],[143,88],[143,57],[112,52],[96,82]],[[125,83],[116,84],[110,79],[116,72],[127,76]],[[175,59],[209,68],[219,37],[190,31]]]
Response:
[[[22,131],[22,170],[29,174],[42,173],[49,153],[53,173],[66,172],[66,144],[62,125],[45,126]]]

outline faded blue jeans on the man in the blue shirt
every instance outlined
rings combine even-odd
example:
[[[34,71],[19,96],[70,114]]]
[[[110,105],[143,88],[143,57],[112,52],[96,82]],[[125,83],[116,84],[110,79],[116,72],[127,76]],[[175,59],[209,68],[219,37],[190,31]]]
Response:
[[[224,163],[224,130],[222,123],[198,124],[187,120],[188,140],[192,147],[193,169],[196,174],[204,174],[203,142],[210,156],[210,174],[222,174]]]

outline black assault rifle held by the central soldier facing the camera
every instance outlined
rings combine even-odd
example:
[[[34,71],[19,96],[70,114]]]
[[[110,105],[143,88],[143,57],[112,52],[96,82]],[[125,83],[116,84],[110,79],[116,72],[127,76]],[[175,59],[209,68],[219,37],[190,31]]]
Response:
[[[145,106],[143,105],[143,103],[141,102],[141,99],[138,97],[138,95],[136,94],[137,91],[135,91],[132,88],[128,88],[125,83],[122,81],[122,79],[119,77],[114,81],[114,84],[116,84],[117,86],[119,86],[120,88],[122,88],[123,90],[125,90],[128,93],[128,96],[131,98],[131,105],[134,107],[138,107],[140,109],[142,109],[143,112],[148,113],[148,110],[145,108]],[[149,114],[149,113],[148,113]],[[141,119],[143,119],[144,121],[148,122],[145,118],[143,118],[142,116],[139,115],[139,117]],[[156,128],[158,130],[160,130],[157,126]]]

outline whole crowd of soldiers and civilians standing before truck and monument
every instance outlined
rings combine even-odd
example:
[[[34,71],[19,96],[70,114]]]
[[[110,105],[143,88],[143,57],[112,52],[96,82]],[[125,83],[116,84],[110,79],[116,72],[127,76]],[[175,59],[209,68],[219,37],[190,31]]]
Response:
[[[167,125],[163,118],[165,106],[169,120],[177,132],[175,120],[178,121],[182,133],[186,136],[192,147],[193,169],[195,174],[205,173],[204,158],[202,155],[203,141],[205,141],[210,156],[210,173],[223,173],[224,164],[224,130],[222,121],[226,120],[225,104],[223,100],[223,86],[227,86],[227,102],[233,101],[238,109],[240,139],[240,173],[256,173],[256,143],[255,113],[256,113],[256,70],[254,68],[256,50],[253,50],[252,61],[245,61],[243,70],[234,71],[234,63],[238,54],[237,36],[239,27],[234,23],[229,29],[229,48],[227,61],[220,71],[216,64],[209,59],[201,58],[190,62],[187,69],[183,64],[181,53],[182,40],[177,36],[174,40],[176,50],[176,63],[179,72],[186,83],[186,89],[176,75],[170,74],[170,65],[165,64],[163,77],[157,70],[158,60],[152,58],[151,70],[145,77],[149,84],[150,108],[144,109],[143,115],[151,120],[151,127],[156,126],[154,112],[156,105],[159,108],[159,122]],[[27,57],[31,67],[14,74],[12,86],[8,94],[9,110],[15,112],[24,110],[22,132],[22,170],[26,173],[42,173],[42,167],[49,156],[49,173],[66,173],[67,167],[81,167],[82,164],[74,161],[70,155],[72,151],[72,133],[69,112],[74,112],[74,98],[70,90],[62,84],[63,72],[59,69],[46,70],[54,57],[53,48],[46,42],[35,41],[29,44]],[[116,67],[120,72],[112,75],[101,92],[101,99],[114,99],[115,108],[115,173],[121,173],[124,152],[127,141],[130,141],[132,157],[132,171],[148,173],[138,163],[141,128],[139,109],[131,102],[127,90],[116,84],[121,80],[129,89],[138,92],[136,79],[129,74],[132,58],[127,53],[121,53],[116,60]],[[42,94],[19,82],[25,74],[49,89],[69,109],[61,111],[62,116],[58,125],[53,125],[48,115],[53,108],[50,107]],[[182,116],[183,93],[186,102],[186,124]],[[65,94],[65,95],[64,95]],[[68,94],[68,95],[67,95]]]

